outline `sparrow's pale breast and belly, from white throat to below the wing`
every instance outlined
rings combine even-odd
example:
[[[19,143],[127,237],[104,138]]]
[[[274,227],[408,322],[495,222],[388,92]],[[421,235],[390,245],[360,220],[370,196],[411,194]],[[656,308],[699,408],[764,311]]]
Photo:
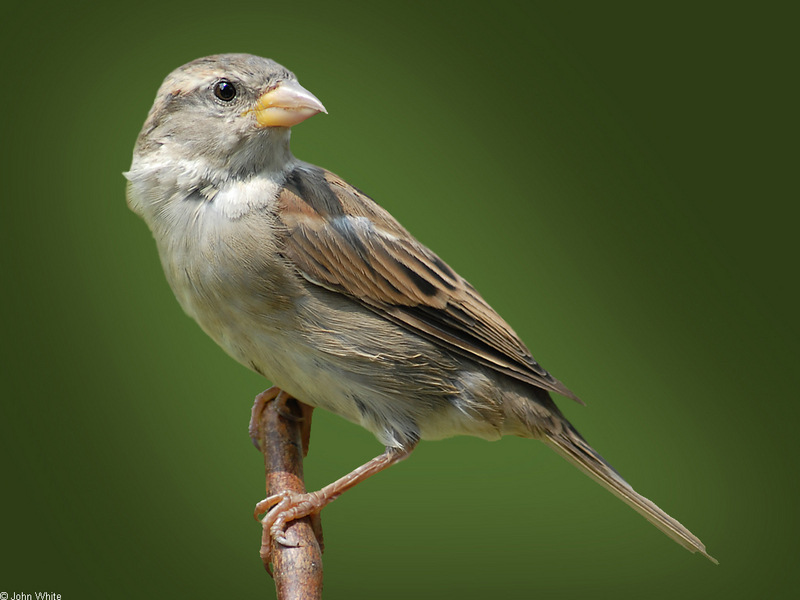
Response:
[[[473,396],[459,359],[300,276],[280,251],[274,207],[236,214],[217,199],[174,202],[151,229],[176,298],[228,354],[386,445],[497,435],[454,403]]]

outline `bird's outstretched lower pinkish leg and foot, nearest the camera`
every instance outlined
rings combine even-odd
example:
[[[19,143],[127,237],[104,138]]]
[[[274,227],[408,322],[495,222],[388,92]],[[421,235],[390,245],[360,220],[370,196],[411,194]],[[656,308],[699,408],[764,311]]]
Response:
[[[400,462],[411,454],[413,449],[413,446],[387,448],[386,452],[380,456],[376,456],[368,463],[361,465],[317,492],[298,494],[287,491],[274,494],[256,504],[253,516],[258,519],[259,515],[267,513],[261,520],[264,529],[269,529],[270,535],[278,543],[284,546],[291,546],[292,544],[283,535],[286,523],[307,515],[318,514],[326,505],[336,500],[351,487],[361,483],[367,477],[371,477],[375,473]]]

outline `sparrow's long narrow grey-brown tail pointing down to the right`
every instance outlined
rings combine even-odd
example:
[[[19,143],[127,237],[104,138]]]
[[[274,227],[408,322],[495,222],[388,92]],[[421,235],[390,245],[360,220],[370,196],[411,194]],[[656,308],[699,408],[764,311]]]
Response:
[[[706,552],[706,547],[691,531],[670,517],[655,504],[636,491],[619,473],[609,465],[575,429],[566,422],[566,427],[557,434],[542,436],[542,441],[566,458],[592,479],[622,498],[645,519],[691,552],[700,552],[703,556],[719,564]]]

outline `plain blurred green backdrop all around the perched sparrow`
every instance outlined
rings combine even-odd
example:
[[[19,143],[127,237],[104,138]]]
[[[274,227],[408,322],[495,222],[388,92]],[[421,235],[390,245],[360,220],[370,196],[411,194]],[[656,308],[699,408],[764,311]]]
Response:
[[[577,428],[721,563],[541,444],[457,438],[422,443],[323,512],[326,598],[794,596],[791,15],[505,1],[4,11],[0,591],[274,596],[246,432],[267,382],[181,312],[121,175],[168,72],[250,52],[329,110],[295,128],[295,154],[481,290],[587,402],[561,402]],[[307,483],[380,451],[318,411]]]

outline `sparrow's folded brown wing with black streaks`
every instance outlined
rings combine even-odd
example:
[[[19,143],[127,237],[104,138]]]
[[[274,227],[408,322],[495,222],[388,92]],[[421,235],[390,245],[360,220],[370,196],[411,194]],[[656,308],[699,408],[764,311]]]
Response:
[[[293,169],[278,215],[283,252],[311,283],[496,371],[581,402],[539,366],[469,283],[336,175],[310,165]]]

